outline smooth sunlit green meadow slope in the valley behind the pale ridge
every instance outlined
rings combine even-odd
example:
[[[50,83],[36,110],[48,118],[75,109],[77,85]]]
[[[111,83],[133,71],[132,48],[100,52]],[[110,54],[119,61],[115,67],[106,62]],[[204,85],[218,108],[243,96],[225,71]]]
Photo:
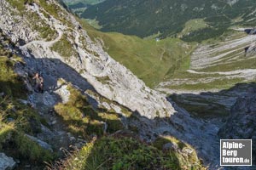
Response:
[[[113,59],[125,65],[150,87],[172,77],[177,70],[189,68],[189,54],[195,47],[192,43],[189,45],[176,38],[156,42],[117,32],[105,33],[96,31],[84,20],[81,23],[90,37],[103,40],[104,48]]]

